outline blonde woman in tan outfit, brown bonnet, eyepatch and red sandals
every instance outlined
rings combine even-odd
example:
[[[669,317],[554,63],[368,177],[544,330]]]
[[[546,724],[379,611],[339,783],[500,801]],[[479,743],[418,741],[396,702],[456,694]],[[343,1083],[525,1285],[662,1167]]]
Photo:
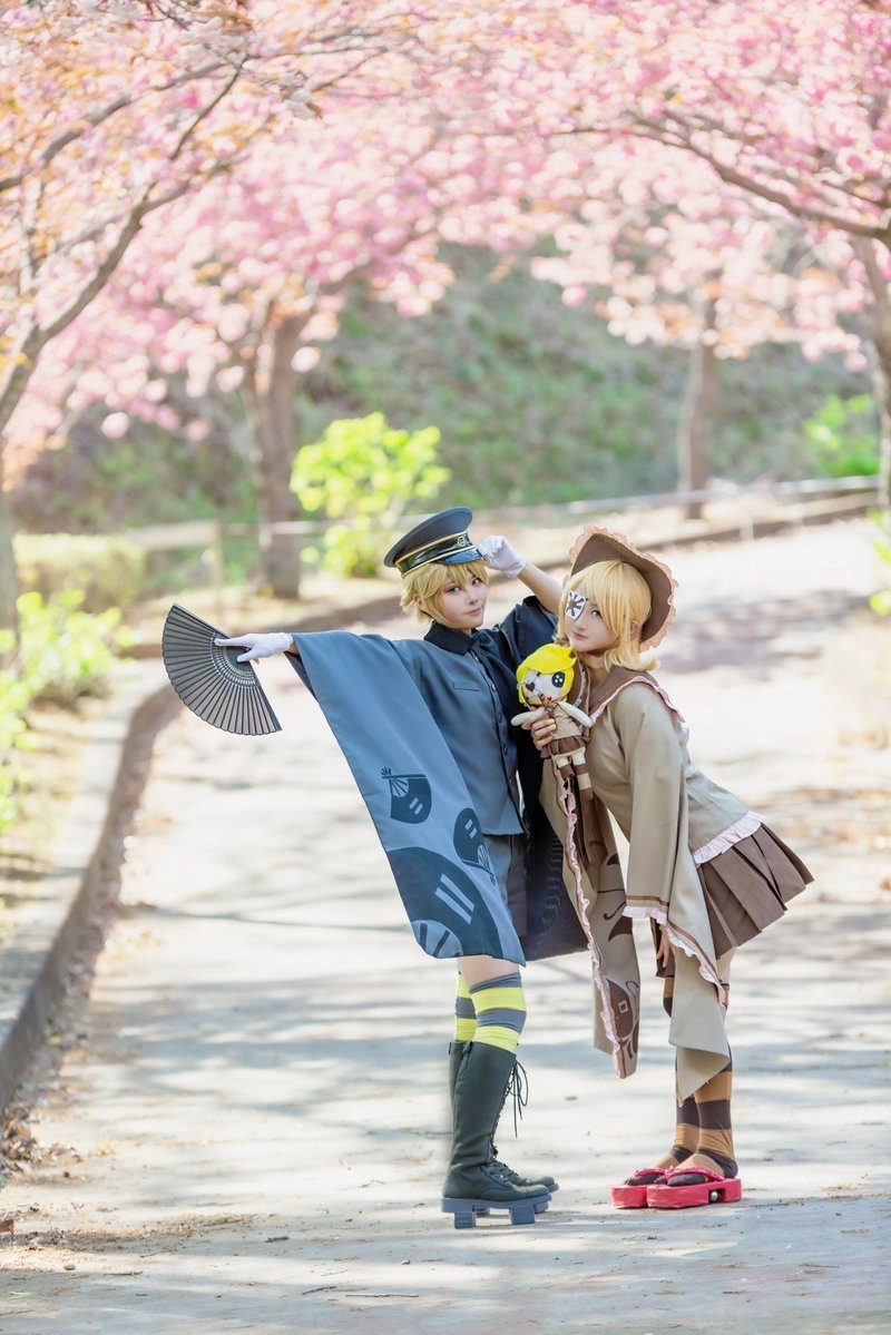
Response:
[[[729,961],[811,880],[781,840],[691,762],[684,721],[647,668],[673,615],[665,566],[605,530],[572,553],[558,639],[582,672],[573,701],[592,720],[586,760],[596,797],[628,840],[628,917],[648,917],[665,980],[676,1060],[675,1140],[652,1168],[613,1188],[622,1207],[737,1200],[732,1061],[724,1016]],[[550,732],[533,726],[542,749]],[[546,778],[577,884],[588,870],[572,780]],[[681,1167],[683,1164],[683,1167]]]

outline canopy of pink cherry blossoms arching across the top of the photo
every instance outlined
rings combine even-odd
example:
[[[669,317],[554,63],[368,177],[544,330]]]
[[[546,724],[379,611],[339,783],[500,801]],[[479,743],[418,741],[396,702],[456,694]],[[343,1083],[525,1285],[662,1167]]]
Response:
[[[779,310],[793,302],[801,323],[800,294],[808,283],[812,288],[822,284],[811,304],[822,306],[823,314],[803,342],[806,352],[815,354],[827,339],[842,336],[838,330],[830,332],[832,302],[868,302],[880,402],[891,419],[886,91],[891,17],[883,3],[808,0],[780,8],[775,0],[665,0],[660,5],[649,0],[516,0],[512,5],[484,0],[473,7],[446,0],[403,5],[398,0],[96,0],[84,7],[45,0],[9,13],[1,40],[12,69],[7,105],[17,132],[7,136],[16,147],[0,172],[11,203],[0,215],[0,256],[8,275],[4,298],[12,312],[9,328],[16,331],[0,335],[7,378],[0,380],[0,409],[5,405],[7,418],[24,386],[33,383],[39,360],[45,368],[48,350],[61,347],[56,340],[73,328],[75,319],[79,340],[87,344],[87,311],[131,251],[132,282],[126,286],[130,295],[142,291],[146,342],[164,344],[159,364],[167,364],[164,358],[176,363],[171,347],[179,342],[179,355],[186,356],[198,384],[200,375],[192,376],[192,368],[202,363],[203,346],[203,374],[234,379],[240,371],[246,390],[256,395],[258,421],[264,403],[270,419],[285,422],[287,395],[269,390],[281,388],[285,370],[299,370],[313,355],[309,348],[319,328],[334,327],[349,282],[369,280],[405,307],[423,304],[448,280],[435,259],[434,236],[494,236],[506,244],[508,234],[522,232],[518,218],[533,219],[524,226],[534,228],[546,218],[565,223],[574,210],[596,223],[597,200],[613,207],[617,199],[621,208],[639,211],[644,200],[657,202],[653,222],[667,235],[652,234],[651,242],[655,251],[668,255],[665,263],[659,259],[663,284],[671,263],[677,267],[683,236],[680,224],[664,226],[665,216],[675,210],[684,228],[692,228],[687,235],[697,238],[697,252],[708,262],[703,272],[687,275],[689,290],[700,294],[697,336],[704,348],[731,323],[747,322],[740,307],[733,322],[725,320],[721,311],[727,307],[720,306],[731,299],[728,272],[741,274],[757,252],[757,232],[743,235],[740,200],[745,199],[751,215],[759,215],[768,231],[779,228],[781,214],[810,228],[822,254],[844,272],[840,296],[823,278],[818,283],[812,274],[797,274],[795,298],[787,292],[779,304],[775,299],[765,303]],[[55,109],[59,87],[69,97],[61,124]],[[333,105],[343,116],[342,125],[331,115]],[[383,105],[391,116],[381,123],[375,112]],[[331,200],[318,210],[319,218],[326,210],[330,214],[334,250],[319,247],[318,227],[298,226],[303,251],[290,255],[285,278],[275,272],[275,248],[287,252],[289,223],[277,235],[263,234],[234,199],[240,190],[243,203],[243,191],[252,188],[254,198],[260,194],[270,206],[275,192],[263,194],[266,146],[275,144],[286,163],[289,147],[301,142],[293,127],[311,128],[319,108],[322,124],[331,127],[331,143],[354,135],[351,166],[342,170],[358,175],[349,188],[334,191],[334,214]],[[283,128],[286,113],[289,129]],[[299,121],[301,116],[307,121]],[[369,192],[363,171],[374,160],[375,170],[383,164],[383,182],[393,182],[382,146],[397,150],[399,191],[382,191],[385,207],[374,220],[374,200],[363,204]],[[437,154],[445,155],[438,168]],[[426,159],[423,191],[411,186],[419,158]],[[281,163],[275,171],[282,171]],[[301,187],[305,199],[313,198],[311,187]],[[358,192],[355,226],[349,224],[351,191]],[[426,202],[405,206],[407,218],[402,219],[405,198],[422,195]],[[3,199],[0,194],[0,204]],[[215,220],[202,214],[214,202],[224,210]],[[293,192],[287,207],[299,214]],[[215,222],[228,219],[230,212],[240,218],[240,250],[216,236],[210,243]],[[188,219],[192,230],[174,275],[164,244],[178,235],[179,218]],[[195,238],[200,244],[190,246]],[[252,258],[259,270],[251,274],[248,250],[258,243]],[[313,246],[333,252],[335,262],[319,264]],[[339,246],[350,255],[338,256]],[[150,292],[151,283],[140,287],[140,279],[148,272],[152,248],[164,279],[163,290],[155,283]],[[226,254],[220,258],[216,248]],[[570,254],[581,262],[577,246],[565,250],[564,259]],[[216,276],[214,264],[220,266]],[[764,264],[759,272],[764,284],[776,286],[784,276],[771,279]],[[719,275],[720,291],[715,287]],[[656,280],[652,268],[648,276]],[[632,300],[629,282],[622,278],[624,291],[614,292],[614,324],[631,330],[645,320],[668,319],[661,288],[659,303]],[[110,312],[118,300],[110,299]],[[148,316],[154,304],[160,311]],[[713,328],[703,331],[703,320]],[[668,324],[680,331],[677,310]],[[692,336],[692,328],[680,336]],[[252,352],[246,339],[247,344],[252,339]],[[147,379],[142,362],[131,367],[128,398],[122,371],[127,362],[116,358],[118,387],[108,399],[112,417],[132,410],[131,400],[140,396],[155,402],[159,413],[168,407],[163,386],[155,383],[156,376]],[[75,364],[69,358],[69,368]],[[53,390],[61,383],[64,367],[59,370],[59,376],[44,375],[44,396],[49,380]],[[96,383],[90,390],[87,370],[73,387],[72,402],[77,395],[106,392]],[[17,425],[4,422],[0,413],[19,443],[28,443],[28,414],[32,442],[52,431],[56,409],[45,409],[49,417],[41,427],[35,422],[39,399],[25,413],[24,405],[16,410]],[[883,459],[887,490],[887,423]]]

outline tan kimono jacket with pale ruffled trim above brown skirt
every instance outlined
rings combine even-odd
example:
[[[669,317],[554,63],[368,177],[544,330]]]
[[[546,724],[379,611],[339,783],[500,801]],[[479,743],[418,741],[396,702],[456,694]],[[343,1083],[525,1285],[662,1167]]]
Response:
[[[655,920],[675,947],[669,1041],[677,1048],[677,1089],[685,1099],[721,1071],[729,1056],[723,988],[696,864],[753,833],[760,817],[691,764],[684,721],[648,673],[614,668],[578,702],[593,720],[586,754],[594,792],[629,845],[624,914]],[[558,782],[548,773],[546,809],[562,837],[574,821],[572,813],[566,820],[561,812],[565,798]],[[565,840],[565,846],[573,844],[581,852],[577,838]],[[566,861],[572,870],[572,854]],[[565,880],[576,902],[580,878]],[[602,1047],[597,1035],[594,1041]]]

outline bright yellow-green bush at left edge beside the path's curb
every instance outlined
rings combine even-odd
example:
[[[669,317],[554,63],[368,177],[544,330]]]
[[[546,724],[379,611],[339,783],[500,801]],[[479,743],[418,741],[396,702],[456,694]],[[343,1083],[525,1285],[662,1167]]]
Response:
[[[116,650],[131,642],[116,607],[94,617],[80,610],[79,590],[21,594],[19,643],[11,666],[0,669],[0,833],[16,817],[23,785],[17,757],[31,749],[27,713],[33,701],[72,705],[80,696],[106,690]],[[0,661],[16,650],[11,631],[0,631]]]

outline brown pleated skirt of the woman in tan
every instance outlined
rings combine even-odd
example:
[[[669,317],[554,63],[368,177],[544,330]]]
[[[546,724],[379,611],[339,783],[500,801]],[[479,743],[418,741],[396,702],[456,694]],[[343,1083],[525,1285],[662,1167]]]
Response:
[[[697,866],[716,956],[751,941],[814,880],[767,825]]]

